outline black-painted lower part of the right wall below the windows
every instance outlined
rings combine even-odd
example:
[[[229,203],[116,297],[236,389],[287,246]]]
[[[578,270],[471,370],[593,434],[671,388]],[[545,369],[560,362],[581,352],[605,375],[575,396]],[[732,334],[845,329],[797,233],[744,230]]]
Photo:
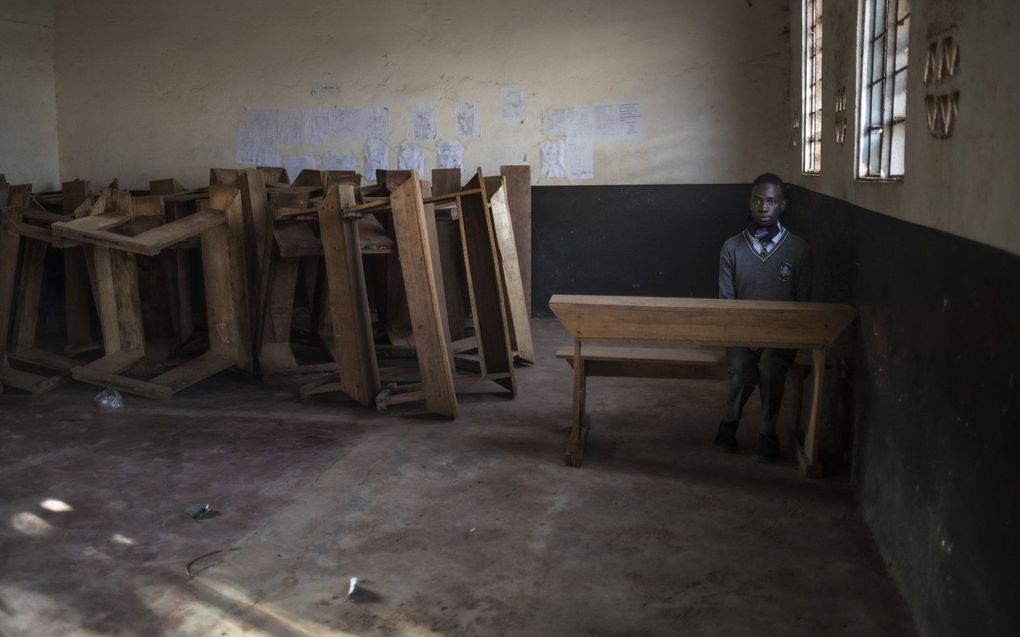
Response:
[[[854,482],[918,628],[1020,634],[1020,258],[804,189],[789,212],[860,312]]]

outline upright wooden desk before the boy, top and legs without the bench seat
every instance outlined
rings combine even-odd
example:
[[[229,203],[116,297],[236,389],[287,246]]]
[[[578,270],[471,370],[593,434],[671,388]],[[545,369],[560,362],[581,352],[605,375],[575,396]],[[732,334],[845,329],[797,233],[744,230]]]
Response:
[[[857,311],[846,305],[777,301],[732,301],[658,297],[554,295],[549,308],[574,337],[573,419],[566,462],[579,467],[588,436],[584,394],[589,376],[600,375],[584,358],[586,341],[656,341],[714,347],[790,348],[811,351],[812,382],[804,441],[798,461],[809,476],[821,475],[818,427],[825,353],[853,322]],[[627,363],[621,359],[620,363]],[[640,362],[634,362],[639,364]],[[651,370],[622,366],[626,373],[655,376]],[[621,366],[617,366],[621,369]],[[675,376],[674,376],[675,377]]]

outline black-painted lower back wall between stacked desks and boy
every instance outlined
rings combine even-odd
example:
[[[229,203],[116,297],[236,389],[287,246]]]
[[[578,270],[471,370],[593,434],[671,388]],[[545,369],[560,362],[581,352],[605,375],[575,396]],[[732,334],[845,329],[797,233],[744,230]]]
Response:
[[[719,248],[747,184],[531,189],[531,311],[555,294],[718,296]]]

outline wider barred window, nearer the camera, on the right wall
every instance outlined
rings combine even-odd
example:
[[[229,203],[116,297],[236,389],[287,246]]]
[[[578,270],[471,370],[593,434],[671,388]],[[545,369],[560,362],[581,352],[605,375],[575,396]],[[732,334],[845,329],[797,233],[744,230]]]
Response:
[[[909,0],[863,0],[857,176],[902,179]]]

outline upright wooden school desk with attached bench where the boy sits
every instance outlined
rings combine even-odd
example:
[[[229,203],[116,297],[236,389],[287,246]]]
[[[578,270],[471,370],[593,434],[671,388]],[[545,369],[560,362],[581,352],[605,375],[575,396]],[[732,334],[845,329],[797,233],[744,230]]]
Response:
[[[579,467],[588,437],[584,413],[590,376],[725,379],[723,348],[790,348],[810,351],[811,407],[798,460],[818,477],[818,414],[825,351],[857,316],[850,306],[822,303],[649,297],[555,295],[549,307],[574,337],[559,358],[573,367],[573,419],[566,463]],[[651,341],[652,344],[638,344]],[[790,370],[803,381],[807,366]],[[798,405],[795,382],[792,400]]]

